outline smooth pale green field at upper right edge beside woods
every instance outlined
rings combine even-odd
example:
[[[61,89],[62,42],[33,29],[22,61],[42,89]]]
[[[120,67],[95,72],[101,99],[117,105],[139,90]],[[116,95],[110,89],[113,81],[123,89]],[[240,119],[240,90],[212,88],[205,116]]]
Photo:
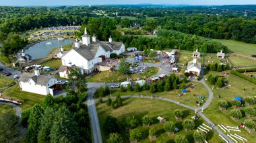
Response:
[[[256,44],[247,44],[245,42],[237,42],[234,40],[216,40],[227,46],[232,52],[251,56],[256,54]]]

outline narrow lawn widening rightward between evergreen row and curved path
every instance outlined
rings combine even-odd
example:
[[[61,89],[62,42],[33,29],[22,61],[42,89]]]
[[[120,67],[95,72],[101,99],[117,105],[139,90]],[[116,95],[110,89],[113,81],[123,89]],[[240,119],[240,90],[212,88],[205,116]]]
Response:
[[[162,98],[166,98],[166,99],[172,99],[174,101],[178,101],[179,103],[183,103],[186,105],[189,105],[191,107],[198,107],[198,105],[195,103],[196,101],[201,101],[200,98],[198,97],[194,97],[193,95],[197,95],[199,97],[205,97],[205,101],[207,100],[207,98],[209,97],[207,89],[205,89],[205,87],[201,84],[201,83],[195,83],[195,82],[191,82],[193,84],[195,84],[196,86],[191,89],[190,87],[187,88],[187,93],[185,95],[181,95],[179,96],[179,94],[181,94],[181,89],[177,89],[177,90],[172,90],[172,91],[164,91],[164,92],[158,92],[158,93],[150,93],[150,91],[141,91],[141,92],[134,92],[134,91],[127,91],[125,93],[121,93],[120,90],[112,90],[112,96],[117,96],[117,95],[144,95],[144,96],[156,96],[156,97],[162,97]],[[189,83],[187,83],[187,85],[189,85]]]

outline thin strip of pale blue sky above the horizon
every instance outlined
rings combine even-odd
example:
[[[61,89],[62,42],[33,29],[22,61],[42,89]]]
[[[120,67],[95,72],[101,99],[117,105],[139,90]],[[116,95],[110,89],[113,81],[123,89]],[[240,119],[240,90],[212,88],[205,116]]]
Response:
[[[189,4],[189,5],[245,5],[256,0],[0,0],[0,5],[105,5],[105,4]]]

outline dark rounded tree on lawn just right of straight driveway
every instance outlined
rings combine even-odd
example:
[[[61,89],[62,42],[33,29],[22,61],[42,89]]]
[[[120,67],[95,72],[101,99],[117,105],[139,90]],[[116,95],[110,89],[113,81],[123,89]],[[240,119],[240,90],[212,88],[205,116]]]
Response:
[[[117,124],[117,118],[109,115],[105,117],[102,127],[106,134],[119,132],[119,125]]]

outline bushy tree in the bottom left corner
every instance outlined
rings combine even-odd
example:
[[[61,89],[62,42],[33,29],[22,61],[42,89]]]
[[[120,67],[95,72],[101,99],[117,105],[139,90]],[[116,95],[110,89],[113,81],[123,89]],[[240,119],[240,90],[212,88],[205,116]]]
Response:
[[[18,135],[19,118],[12,112],[1,113],[0,115],[0,142],[14,142]]]

